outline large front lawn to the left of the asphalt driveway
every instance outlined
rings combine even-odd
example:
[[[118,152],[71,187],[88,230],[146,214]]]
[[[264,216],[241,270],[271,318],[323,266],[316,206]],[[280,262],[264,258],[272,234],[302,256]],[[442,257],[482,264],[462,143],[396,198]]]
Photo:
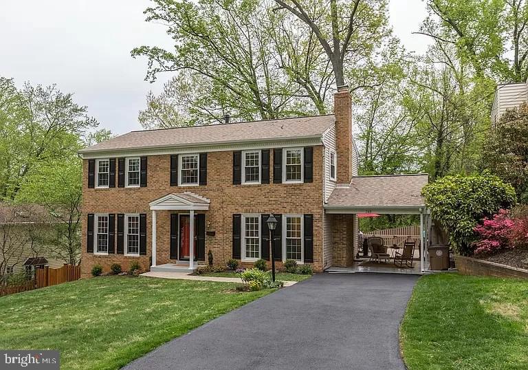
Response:
[[[118,369],[273,290],[108,276],[0,298],[0,348],[58,349],[62,369]]]

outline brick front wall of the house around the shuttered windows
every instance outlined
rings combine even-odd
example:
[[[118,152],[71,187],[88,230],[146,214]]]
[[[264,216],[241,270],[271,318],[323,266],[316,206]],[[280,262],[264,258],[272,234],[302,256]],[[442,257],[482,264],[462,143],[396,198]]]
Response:
[[[126,270],[137,261],[144,270],[150,266],[152,254],[152,213],[148,203],[168,193],[190,191],[210,199],[206,214],[206,254],[212,251],[214,264],[225,265],[232,258],[232,215],[235,213],[277,213],[314,215],[314,270],[322,270],[322,163],[323,150],[314,146],[313,182],[305,184],[273,184],[273,169],[270,184],[233,185],[232,151],[208,153],[207,185],[170,186],[170,155],[148,156],[147,186],[143,188],[88,188],[87,160],[83,161],[83,220],[89,213],[146,213],[147,252],[140,257],[123,254],[96,255],[87,252],[87,223],[83,222],[83,276],[89,276],[96,263],[109,271],[112,263],[120,263]],[[273,163],[273,151],[270,151]],[[157,265],[175,260],[169,259],[170,213],[177,211],[157,210]],[[182,213],[188,213],[183,211]],[[210,233],[209,233],[210,234]],[[242,264],[244,265],[244,264]],[[248,264],[249,265],[249,264]],[[281,263],[277,263],[281,265]]]

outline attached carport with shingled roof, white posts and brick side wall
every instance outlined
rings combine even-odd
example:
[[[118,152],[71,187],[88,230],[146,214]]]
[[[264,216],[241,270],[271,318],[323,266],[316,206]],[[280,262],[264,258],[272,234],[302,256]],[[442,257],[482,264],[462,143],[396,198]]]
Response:
[[[427,174],[415,175],[380,175],[355,176],[350,184],[338,184],[333,189],[325,204],[325,217],[331,218],[332,256],[346,250],[346,261],[351,261],[355,248],[358,248],[358,215],[359,213],[375,213],[378,215],[419,215],[419,266],[420,272],[425,272],[426,245],[430,230],[430,213],[421,196],[421,189],[428,184]],[[336,217],[341,215],[341,217]],[[344,226],[340,226],[340,219]],[[346,230],[347,237],[338,238]],[[347,262],[351,264],[351,262]]]

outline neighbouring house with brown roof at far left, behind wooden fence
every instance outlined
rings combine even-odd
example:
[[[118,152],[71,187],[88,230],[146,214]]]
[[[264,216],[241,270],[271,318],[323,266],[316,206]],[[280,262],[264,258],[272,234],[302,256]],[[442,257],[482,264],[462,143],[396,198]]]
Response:
[[[45,245],[52,218],[36,204],[0,204],[0,276],[36,268],[58,268],[63,261],[54,258]]]

